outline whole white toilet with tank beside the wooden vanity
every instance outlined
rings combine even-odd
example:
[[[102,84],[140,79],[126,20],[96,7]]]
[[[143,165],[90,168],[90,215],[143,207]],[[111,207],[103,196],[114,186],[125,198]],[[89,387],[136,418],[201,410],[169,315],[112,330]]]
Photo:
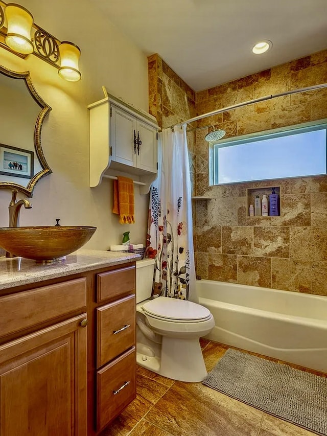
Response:
[[[215,326],[208,309],[190,301],[151,297],[154,260],[136,262],[136,360],[174,380],[197,382],[207,375],[199,338]]]

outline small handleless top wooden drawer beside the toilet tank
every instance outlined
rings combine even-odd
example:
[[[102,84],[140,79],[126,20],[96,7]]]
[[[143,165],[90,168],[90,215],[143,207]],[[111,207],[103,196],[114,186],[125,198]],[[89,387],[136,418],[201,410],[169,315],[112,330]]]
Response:
[[[97,302],[135,292],[135,266],[98,274]]]

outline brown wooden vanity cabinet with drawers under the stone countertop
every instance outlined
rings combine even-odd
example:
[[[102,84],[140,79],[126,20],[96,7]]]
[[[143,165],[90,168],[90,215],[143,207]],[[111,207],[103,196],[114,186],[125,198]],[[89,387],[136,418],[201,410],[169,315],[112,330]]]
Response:
[[[6,287],[0,258],[0,436],[96,435],[135,398],[135,260],[114,259]]]

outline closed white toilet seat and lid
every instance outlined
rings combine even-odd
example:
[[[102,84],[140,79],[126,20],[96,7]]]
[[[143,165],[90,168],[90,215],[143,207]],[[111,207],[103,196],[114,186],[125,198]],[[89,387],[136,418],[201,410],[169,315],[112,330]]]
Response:
[[[142,308],[152,318],[173,323],[202,323],[212,318],[206,307],[169,297],[160,296],[145,303]]]

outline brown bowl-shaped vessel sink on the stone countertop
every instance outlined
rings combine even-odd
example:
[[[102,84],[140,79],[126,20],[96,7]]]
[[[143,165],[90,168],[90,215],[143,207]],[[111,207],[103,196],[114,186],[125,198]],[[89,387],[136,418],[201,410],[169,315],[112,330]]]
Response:
[[[89,226],[1,227],[0,247],[9,253],[51,263],[81,248],[95,233]]]

